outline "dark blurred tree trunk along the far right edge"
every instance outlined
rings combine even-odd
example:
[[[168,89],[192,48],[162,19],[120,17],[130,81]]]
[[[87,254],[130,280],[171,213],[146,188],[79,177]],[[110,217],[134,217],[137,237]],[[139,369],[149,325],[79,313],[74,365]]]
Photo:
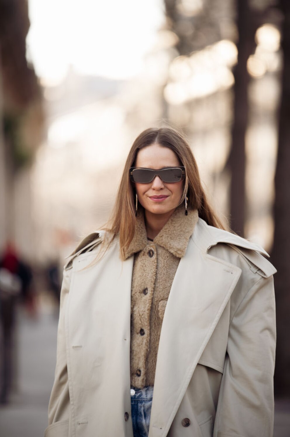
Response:
[[[279,121],[279,143],[275,175],[276,198],[274,205],[273,264],[275,275],[277,348],[275,392],[290,393],[290,2],[280,0],[284,14],[282,49],[284,68],[282,76],[282,100]]]

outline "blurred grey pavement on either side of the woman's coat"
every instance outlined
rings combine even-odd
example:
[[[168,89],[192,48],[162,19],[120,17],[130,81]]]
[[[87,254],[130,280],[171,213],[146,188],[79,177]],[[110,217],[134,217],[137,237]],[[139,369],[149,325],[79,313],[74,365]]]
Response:
[[[44,435],[55,368],[56,333],[57,316],[48,299],[41,301],[38,319],[29,319],[23,311],[19,312],[17,392],[11,395],[7,406],[0,408],[1,437]],[[274,437],[290,437],[290,399],[276,400],[275,404]]]

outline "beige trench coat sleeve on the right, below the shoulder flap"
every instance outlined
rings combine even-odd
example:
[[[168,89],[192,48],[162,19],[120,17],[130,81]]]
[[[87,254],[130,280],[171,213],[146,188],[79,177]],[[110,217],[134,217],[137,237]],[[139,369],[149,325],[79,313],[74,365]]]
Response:
[[[230,322],[214,437],[273,436],[275,344],[273,276],[259,276]]]

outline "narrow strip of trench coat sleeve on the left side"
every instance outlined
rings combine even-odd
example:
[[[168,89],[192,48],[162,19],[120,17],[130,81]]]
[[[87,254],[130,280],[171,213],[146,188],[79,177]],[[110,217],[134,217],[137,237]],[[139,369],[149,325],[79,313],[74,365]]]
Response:
[[[58,321],[55,380],[48,405],[48,427],[45,437],[67,437],[69,421],[68,371],[65,341],[65,309],[68,301],[71,270],[64,270]]]

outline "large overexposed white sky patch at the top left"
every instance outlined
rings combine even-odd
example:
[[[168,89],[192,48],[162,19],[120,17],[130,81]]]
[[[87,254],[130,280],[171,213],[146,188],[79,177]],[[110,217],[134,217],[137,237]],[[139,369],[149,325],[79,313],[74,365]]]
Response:
[[[85,75],[131,78],[156,42],[162,8],[161,0],[29,0],[27,57],[44,85],[57,85],[70,66]]]

